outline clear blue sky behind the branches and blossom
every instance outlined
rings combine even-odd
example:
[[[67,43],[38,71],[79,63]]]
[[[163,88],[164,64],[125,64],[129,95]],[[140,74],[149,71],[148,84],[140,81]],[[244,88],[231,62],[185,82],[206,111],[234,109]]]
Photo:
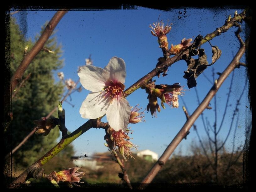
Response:
[[[93,65],[104,68],[111,57],[118,56],[124,59],[126,63],[126,81],[125,86],[128,88],[138,79],[150,72],[157,63],[157,58],[163,56],[161,49],[158,47],[157,38],[151,35],[149,24],[157,22],[160,19],[166,24],[172,23],[172,29],[167,35],[169,46],[172,43],[176,45],[185,38],[194,39],[197,35],[205,36],[207,33],[213,32],[217,27],[224,24],[228,15],[234,14],[232,9],[194,9],[183,8],[172,9],[171,11],[161,11],[148,8],[138,8],[137,10],[101,10],[101,11],[69,11],[56,27],[57,42],[62,45],[64,59],[64,67],[57,72],[64,72],[65,79],[72,78],[77,81],[78,66],[85,65],[85,58],[91,54]],[[241,10],[237,10],[238,13]],[[21,29],[26,30],[26,38],[35,39],[35,35],[40,32],[41,26],[45,21],[49,21],[56,11],[20,11],[13,16],[17,19]],[[181,12],[181,14],[179,14]],[[181,16],[181,19],[179,19]],[[26,20],[21,19],[26,18]],[[24,27],[27,26],[27,27]],[[244,24],[242,24],[244,29]],[[221,58],[211,67],[204,71],[212,81],[212,68],[215,72],[223,72],[227,65],[232,61],[233,56],[239,49],[239,43],[235,38],[232,28],[228,32],[211,40],[212,45],[217,45],[221,51]],[[244,37],[244,33],[242,34]],[[211,46],[204,44],[202,48],[208,56],[211,63]],[[245,58],[242,59],[245,62]],[[198,106],[194,88],[187,87],[187,81],[183,78],[183,71],[187,66],[184,61],[179,61],[169,67],[168,75],[156,79],[157,84],[173,84],[180,83],[184,86],[185,95],[183,96],[188,110],[192,113]],[[58,81],[55,72],[56,81]],[[218,75],[216,75],[217,78]],[[220,124],[221,117],[227,98],[228,88],[231,77],[222,85],[217,93],[217,124]],[[246,70],[240,67],[235,70],[232,94],[230,98],[229,110],[224,121],[223,128],[219,134],[221,140],[225,139],[227,134],[234,106],[241,91],[245,85]],[[204,75],[197,78],[197,90],[202,100],[210,90],[212,84],[207,81]],[[246,88],[247,90],[247,88]],[[73,93],[72,101],[68,99],[75,107],[66,102],[63,108],[66,112],[66,126],[69,131],[76,130],[86,119],[79,114],[80,106],[88,95],[89,91],[83,89],[81,93]],[[142,110],[147,107],[148,100],[145,90],[136,90],[127,97],[131,106],[140,104]],[[184,125],[186,118],[182,110],[183,103],[179,99],[180,107],[171,109],[166,105],[166,109],[161,108],[161,112],[157,113],[157,118],[152,118],[150,113],[145,111],[146,122],[130,125],[133,134],[132,142],[139,146],[138,150],[150,149],[161,155],[166,146],[172,141],[173,137],[179,132]],[[214,107],[213,101],[211,106]],[[236,143],[243,143],[244,128],[247,125],[248,117],[250,117],[247,98],[247,91],[241,99],[239,128],[237,129]],[[214,123],[214,110],[206,110],[204,112],[208,116],[211,125]],[[103,119],[106,121],[106,118]],[[202,121],[199,118],[195,124],[197,125],[200,136],[206,138]],[[234,127],[233,129],[234,130]],[[105,152],[107,148],[104,146],[105,131],[102,129],[90,129],[82,136],[77,138],[72,144],[75,147],[77,155],[92,155],[93,152]],[[232,147],[232,136],[227,142],[227,150]],[[198,141],[196,133],[191,129],[187,140],[183,140],[175,153],[189,154],[191,141]]]

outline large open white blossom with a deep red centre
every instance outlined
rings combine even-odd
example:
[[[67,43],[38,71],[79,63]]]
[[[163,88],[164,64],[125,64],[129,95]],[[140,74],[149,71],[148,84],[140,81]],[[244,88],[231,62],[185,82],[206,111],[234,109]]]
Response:
[[[91,91],[83,101],[80,114],[85,119],[107,115],[109,125],[115,131],[125,131],[129,123],[131,107],[125,99],[125,61],[112,57],[102,69],[92,65],[81,67],[78,73],[84,88]]]

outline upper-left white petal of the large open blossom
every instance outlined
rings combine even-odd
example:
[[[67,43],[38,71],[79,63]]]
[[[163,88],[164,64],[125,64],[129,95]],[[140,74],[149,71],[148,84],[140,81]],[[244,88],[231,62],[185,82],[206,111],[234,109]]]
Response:
[[[80,83],[84,88],[92,92],[101,91],[109,79],[109,72],[100,67],[85,65],[80,70],[78,73]]]

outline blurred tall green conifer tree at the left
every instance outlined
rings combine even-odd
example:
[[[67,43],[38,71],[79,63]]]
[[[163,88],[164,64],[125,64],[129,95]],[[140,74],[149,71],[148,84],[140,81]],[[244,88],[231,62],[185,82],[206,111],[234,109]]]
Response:
[[[42,27],[42,30],[44,27]],[[42,32],[42,31],[41,31]],[[39,38],[39,35],[35,40]],[[10,68],[11,76],[24,58],[24,49],[33,47],[32,40],[25,40],[24,35],[16,24],[15,19],[10,20]],[[15,147],[35,127],[34,120],[45,117],[54,107],[64,91],[62,82],[55,83],[53,72],[62,67],[61,46],[57,45],[56,37],[51,38],[45,44],[45,48],[54,51],[40,51],[29,65],[23,78],[30,74],[24,85],[17,91],[12,99],[13,120],[9,127],[12,135],[12,145]],[[57,111],[53,114],[58,117]],[[60,136],[58,127],[53,129],[48,136],[33,135],[14,155],[14,162],[18,167],[27,167],[34,163],[45,152],[56,145]],[[72,148],[72,147],[71,147]],[[73,153],[73,148],[69,149]],[[61,154],[60,154],[61,155]],[[16,165],[16,166],[17,166]]]

